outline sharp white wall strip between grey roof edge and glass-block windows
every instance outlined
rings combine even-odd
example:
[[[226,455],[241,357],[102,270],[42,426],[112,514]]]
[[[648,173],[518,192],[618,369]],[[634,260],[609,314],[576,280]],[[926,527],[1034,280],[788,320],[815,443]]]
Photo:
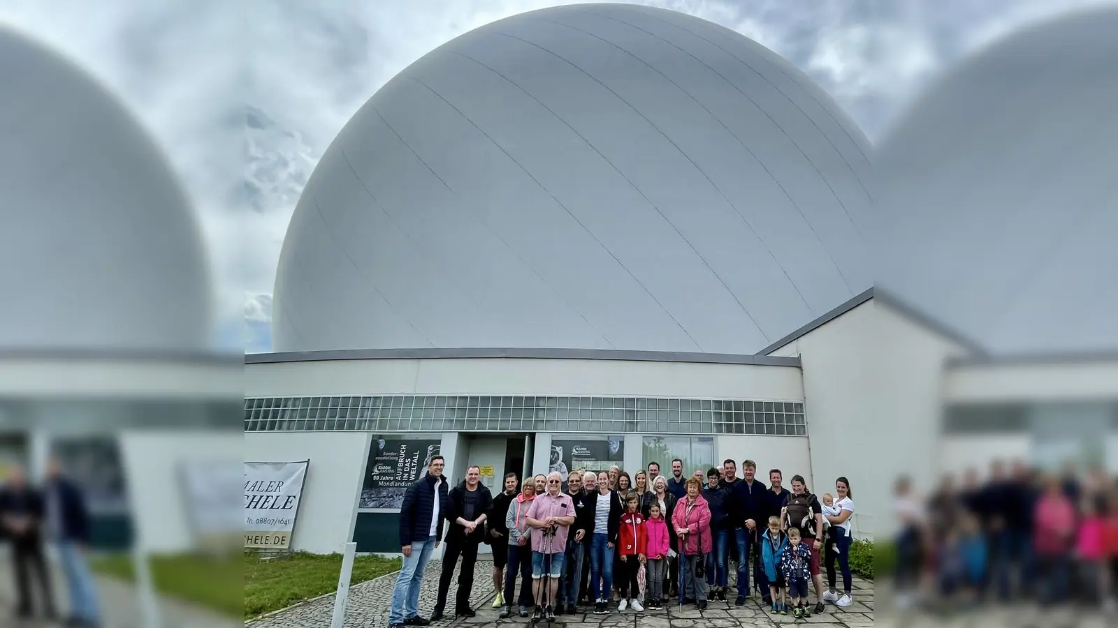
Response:
[[[799,369],[619,360],[333,360],[245,365],[245,397],[546,394],[803,399]]]

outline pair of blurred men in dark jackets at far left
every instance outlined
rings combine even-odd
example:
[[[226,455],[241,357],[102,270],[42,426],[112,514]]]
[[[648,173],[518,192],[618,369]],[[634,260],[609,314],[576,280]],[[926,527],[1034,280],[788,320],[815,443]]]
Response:
[[[56,619],[46,554],[46,548],[51,546],[69,592],[69,616],[65,625],[96,627],[101,624],[101,613],[97,591],[85,560],[89,542],[85,499],[77,484],[63,474],[57,459],[50,459],[46,470],[41,488],[32,486],[18,466],[9,468],[0,486],[0,541],[8,545],[15,572],[16,617],[32,617],[38,598],[39,613]]]

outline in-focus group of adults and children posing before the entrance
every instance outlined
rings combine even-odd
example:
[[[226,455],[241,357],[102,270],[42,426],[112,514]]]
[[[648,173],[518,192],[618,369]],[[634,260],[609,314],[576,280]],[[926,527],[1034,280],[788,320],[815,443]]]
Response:
[[[676,458],[671,475],[661,475],[655,462],[635,476],[614,466],[579,469],[566,482],[559,472],[523,482],[508,473],[494,496],[481,484],[479,467],[471,466],[451,488],[444,465],[440,456],[433,458],[427,474],[405,494],[405,558],[390,628],[442,619],[459,559],[454,615],[474,617],[470,594],[482,543],[492,548],[493,607],[502,618],[513,612],[527,618],[532,607],[533,621],[553,620],[574,615],[579,605],[605,615],[615,601],[619,612],[641,612],[646,606],[663,608],[673,597],[704,609],[711,599],[730,599],[731,560],[737,567],[732,599],[739,607],[751,597],[750,578],[773,613],[807,617],[824,612],[825,602],[845,607],[852,601],[854,502],[845,477],[835,482],[834,495],[816,496],[799,475],[793,476],[792,491],[784,488],[779,469],[769,472],[766,486],[756,479],[752,460],[742,462],[741,477],[732,459],[684,476],[683,460]],[[427,619],[418,611],[423,573],[442,542],[443,572]]]

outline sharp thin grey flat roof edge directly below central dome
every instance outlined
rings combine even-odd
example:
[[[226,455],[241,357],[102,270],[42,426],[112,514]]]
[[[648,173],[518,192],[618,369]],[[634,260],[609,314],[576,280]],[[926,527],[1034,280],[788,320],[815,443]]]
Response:
[[[332,360],[613,360],[620,362],[681,362],[799,368],[799,358],[737,353],[688,353],[675,351],[629,351],[622,349],[347,349],[288,353],[247,353],[245,364],[322,362]]]

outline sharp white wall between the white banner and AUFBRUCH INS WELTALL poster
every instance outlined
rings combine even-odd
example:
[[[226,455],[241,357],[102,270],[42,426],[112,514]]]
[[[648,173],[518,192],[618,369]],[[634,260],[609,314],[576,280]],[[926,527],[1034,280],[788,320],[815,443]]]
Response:
[[[342,552],[353,537],[371,435],[340,432],[246,432],[244,460],[306,460],[306,484],[295,520],[292,549]]]

